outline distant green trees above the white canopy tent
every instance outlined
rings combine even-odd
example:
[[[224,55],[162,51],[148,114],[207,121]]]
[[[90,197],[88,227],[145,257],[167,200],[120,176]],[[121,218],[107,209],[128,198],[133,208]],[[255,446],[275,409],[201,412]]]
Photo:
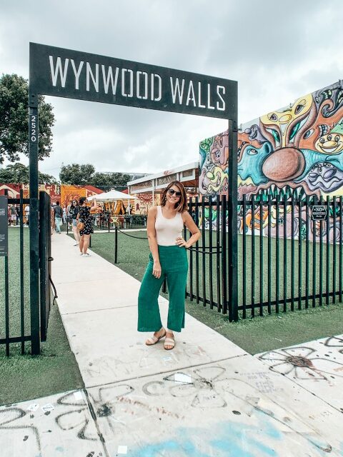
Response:
[[[95,172],[91,164],[64,165],[59,174],[61,184],[74,184],[74,186],[98,186],[98,187],[126,187],[130,180],[129,174],[122,173],[99,173]]]

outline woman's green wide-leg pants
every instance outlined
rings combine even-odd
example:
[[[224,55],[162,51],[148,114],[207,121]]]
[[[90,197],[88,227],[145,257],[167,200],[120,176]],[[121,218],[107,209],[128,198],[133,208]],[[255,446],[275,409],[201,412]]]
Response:
[[[150,253],[138,296],[138,331],[159,331],[162,327],[159,313],[159,290],[166,278],[169,293],[169,311],[166,327],[181,331],[184,328],[184,296],[187,285],[187,250],[179,246],[158,246],[161,277],[153,276],[154,259]]]

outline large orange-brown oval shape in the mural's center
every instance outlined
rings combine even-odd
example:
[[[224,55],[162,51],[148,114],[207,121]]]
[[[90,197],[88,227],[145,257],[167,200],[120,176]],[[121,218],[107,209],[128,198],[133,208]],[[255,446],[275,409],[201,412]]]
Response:
[[[283,148],[267,157],[262,171],[271,181],[284,182],[300,176],[304,167],[305,159],[299,149]]]

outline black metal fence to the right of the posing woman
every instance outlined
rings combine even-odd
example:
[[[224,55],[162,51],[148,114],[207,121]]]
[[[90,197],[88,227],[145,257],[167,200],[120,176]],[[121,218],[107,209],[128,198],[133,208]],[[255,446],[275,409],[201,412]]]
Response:
[[[246,196],[238,201],[239,316],[263,316],[342,301],[342,196],[304,200]],[[326,216],[311,219],[312,206]],[[234,311],[228,301],[227,200],[192,199],[202,237],[189,251],[191,301]],[[184,235],[189,237],[185,230]]]

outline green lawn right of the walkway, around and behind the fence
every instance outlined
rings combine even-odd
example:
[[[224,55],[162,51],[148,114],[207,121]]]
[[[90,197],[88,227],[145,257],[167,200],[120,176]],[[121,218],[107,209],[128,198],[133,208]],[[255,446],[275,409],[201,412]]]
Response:
[[[127,232],[126,232],[127,233]],[[132,236],[146,238],[145,231],[129,232]],[[214,235],[215,236],[215,235]],[[242,243],[242,238],[239,240]],[[296,242],[296,244],[298,241]],[[215,244],[214,244],[215,245]],[[267,246],[267,239],[264,239],[264,245]],[[275,248],[275,241],[272,240],[272,246]],[[207,244],[208,246],[208,244]],[[302,249],[305,249],[305,242],[302,242]],[[114,233],[94,233],[91,236],[91,248],[94,252],[106,258],[106,260],[114,263]],[[273,247],[272,247],[273,248]],[[295,261],[297,261],[297,249],[295,248]],[[257,246],[255,246],[257,250]],[[291,242],[287,240],[287,252],[291,249]],[[282,243],[280,243],[280,262],[282,258]],[[318,251],[318,249],[317,249]],[[332,249],[331,249],[332,251]],[[249,252],[249,251],[247,251]],[[250,251],[251,252],[251,251]],[[257,263],[259,263],[259,252],[255,252]],[[146,263],[149,256],[149,244],[146,239],[136,239],[118,234],[118,261],[117,266],[129,273],[134,278],[141,281],[146,268]],[[264,256],[267,253],[264,252]],[[201,258],[201,255],[199,256]],[[206,256],[207,266],[209,268],[209,256]],[[247,261],[251,258],[251,254],[247,255]],[[337,256],[338,258],[338,256]],[[304,260],[303,260],[304,261]],[[242,257],[241,257],[242,268]],[[310,263],[312,267],[312,263]],[[199,261],[199,266],[202,268],[202,261]],[[304,270],[305,265],[303,265]],[[214,268],[214,266],[213,266]],[[338,270],[338,268],[337,268]],[[215,271],[215,270],[214,270]],[[304,270],[305,271],[305,270]],[[325,270],[324,270],[325,271]],[[290,278],[291,265],[287,263],[287,276]],[[251,274],[251,268],[247,268],[247,276]],[[257,285],[259,284],[258,269],[255,272]],[[296,280],[297,280],[297,275]],[[242,286],[242,271],[240,273],[240,281]],[[264,278],[266,274],[264,273]],[[275,294],[275,276],[273,276],[272,290]],[[302,278],[304,281],[304,277]],[[332,278],[331,278],[332,281]],[[217,278],[213,275],[214,291],[217,290]],[[250,281],[247,281],[249,284]],[[282,292],[282,279],[280,278]],[[287,281],[288,287],[289,281]],[[304,283],[305,284],[305,283]],[[263,282],[265,293],[267,293],[267,283]],[[299,287],[299,281],[296,286]],[[319,287],[319,284],[317,284]],[[207,291],[209,291],[209,280],[206,283]],[[288,293],[289,293],[288,289]],[[199,291],[202,293],[202,281],[199,281]],[[256,294],[259,291],[256,288]],[[249,288],[249,294],[252,289]],[[208,292],[207,292],[208,293]],[[242,290],[241,290],[242,294]],[[162,293],[163,295],[163,293]],[[242,296],[242,295],[241,295]],[[282,296],[282,293],[280,293]],[[289,311],[287,313],[272,314],[263,317],[240,319],[237,323],[229,323],[227,316],[218,313],[217,309],[209,309],[209,306],[204,307],[203,304],[195,301],[186,301],[187,312],[197,318],[199,321],[214,328],[222,335],[237,343],[249,353],[259,353],[269,351],[275,348],[290,346],[292,344],[304,343],[313,339],[322,338],[325,336],[337,335],[343,333],[343,306],[342,304],[330,304],[329,306],[318,306],[317,308],[309,308],[302,311]],[[280,310],[282,308],[280,307]]]

